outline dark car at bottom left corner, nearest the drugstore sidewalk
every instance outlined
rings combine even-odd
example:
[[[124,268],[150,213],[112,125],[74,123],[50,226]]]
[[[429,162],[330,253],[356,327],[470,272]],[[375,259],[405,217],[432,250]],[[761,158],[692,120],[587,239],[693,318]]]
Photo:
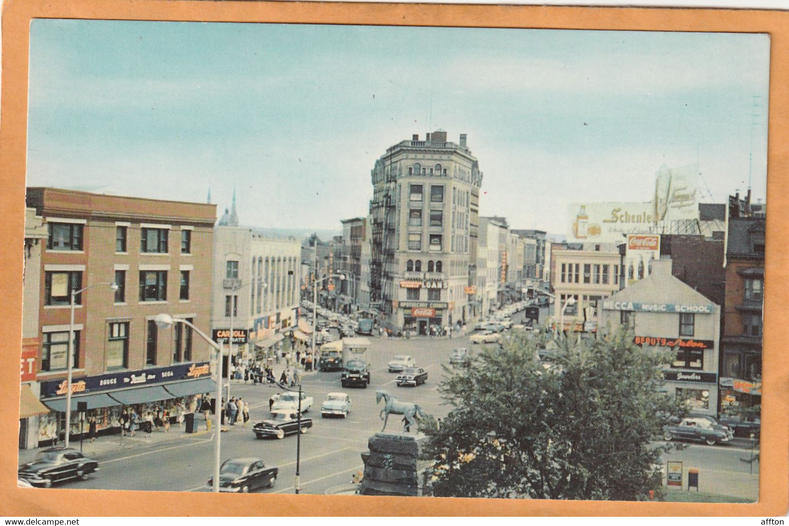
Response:
[[[99,463],[67,447],[52,447],[39,451],[36,460],[19,466],[20,479],[35,487],[50,487],[68,479],[87,479],[99,470]]]

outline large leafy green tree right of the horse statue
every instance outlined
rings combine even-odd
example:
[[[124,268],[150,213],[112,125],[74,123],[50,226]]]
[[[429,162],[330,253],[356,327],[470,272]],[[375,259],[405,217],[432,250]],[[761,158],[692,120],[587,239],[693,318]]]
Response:
[[[654,441],[686,412],[662,391],[670,360],[626,329],[581,342],[523,331],[447,369],[439,391],[454,410],[422,426],[434,494],[649,498],[671,449]]]

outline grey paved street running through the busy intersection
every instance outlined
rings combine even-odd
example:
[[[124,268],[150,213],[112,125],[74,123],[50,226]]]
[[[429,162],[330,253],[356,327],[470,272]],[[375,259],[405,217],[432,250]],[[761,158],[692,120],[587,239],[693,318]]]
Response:
[[[350,483],[353,472],[363,468],[361,453],[367,449],[368,438],[381,430],[381,406],[376,406],[376,390],[389,390],[402,400],[417,401],[424,412],[445,416],[450,408],[441,405],[436,390],[443,374],[441,364],[447,363],[451,349],[472,349],[468,338],[372,338],[372,382],[367,389],[342,389],[339,372],[316,372],[306,375],[305,392],[314,398],[314,405],[306,416],[313,427],[301,436],[301,488],[303,493],[322,494],[331,487]],[[394,373],[387,371],[387,361],[395,354],[409,354],[420,367],[428,371],[428,382],[416,388],[398,387]],[[347,419],[323,419],[320,403],[327,393],[342,390],[350,394],[352,411]],[[259,440],[252,434],[251,423],[268,416],[268,399],[277,391],[271,386],[234,384],[232,395],[241,396],[250,405],[247,427],[229,427],[222,434],[222,459],[230,457],[260,457],[267,465],[280,469],[275,487],[267,492],[294,491],[296,469],[296,436],[282,440]],[[202,426],[201,426],[202,427]],[[387,431],[402,430],[402,422],[392,418]],[[99,457],[101,470],[88,480],[74,481],[68,487],[118,490],[198,491],[204,489],[212,472],[213,435],[186,435],[174,428],[166,442],[146,443],[136,438],[139,447],[124,448]],[[157,435],[155,438],[159,438]],[[119,440],[103,438],[103,440]],[[124,438],[129,445],[131,438]],[[663,459],[683,462],[701,470],[701,491],[736,494],[756,498],[758,463],[740,461],[750,457],[750,449],[738,442],[732,446],[690,444],[685,450],[675,451]],[[88,445],[90,447],[90,445]],[[86,449],[86,453],[89,450]]]

